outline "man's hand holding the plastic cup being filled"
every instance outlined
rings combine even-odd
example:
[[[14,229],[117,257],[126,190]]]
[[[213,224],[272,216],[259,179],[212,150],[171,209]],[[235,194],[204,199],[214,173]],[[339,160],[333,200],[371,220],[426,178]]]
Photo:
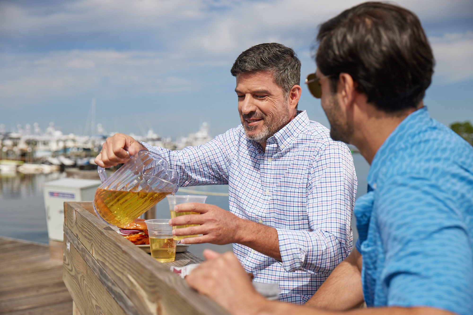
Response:
[[[183,244],[211,243],[225,245],[238,242],[238,235],[243,229],[243,219],[235,214],[223,210],[213,204],[187,203],[178,204],[174,207],[175,212],[197,212],[201,214],[187,214],[169,220],[169,225],[200,224],[173,230],[173,235],[196,235],[193,238],[184,238]]]

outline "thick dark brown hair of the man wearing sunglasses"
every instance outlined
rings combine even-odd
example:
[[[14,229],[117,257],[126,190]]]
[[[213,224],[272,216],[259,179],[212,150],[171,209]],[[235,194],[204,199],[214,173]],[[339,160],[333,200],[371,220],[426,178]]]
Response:
[[[419,18],[407,9],[365,2],[326,21],[317,34],[315,62],[330,77],[348,73],[356,90],[385,112],[417,108],[434,72],[434,57]]]

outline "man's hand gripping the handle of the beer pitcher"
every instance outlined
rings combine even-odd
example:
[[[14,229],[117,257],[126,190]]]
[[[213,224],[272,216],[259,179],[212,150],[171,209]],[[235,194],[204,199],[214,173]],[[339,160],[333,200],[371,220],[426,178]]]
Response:
[[[131,136],[114,134],[114,136],[107,138],[94,162],[100,167],[115,166],[127,162],[130,156],[140,150],[146,150],[146,148]],[[126,153],[127,151],[130,156]]]

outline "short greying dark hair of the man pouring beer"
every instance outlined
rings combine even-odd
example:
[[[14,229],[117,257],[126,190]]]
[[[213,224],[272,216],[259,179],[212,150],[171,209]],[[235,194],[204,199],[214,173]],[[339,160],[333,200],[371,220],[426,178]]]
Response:
[[[285,97],[294,85],[300,85],[300,60],[292,48],[278,43],[263,43],[243,51],[233,63],[230,72],[268,71],[274,82],[284,91]]]

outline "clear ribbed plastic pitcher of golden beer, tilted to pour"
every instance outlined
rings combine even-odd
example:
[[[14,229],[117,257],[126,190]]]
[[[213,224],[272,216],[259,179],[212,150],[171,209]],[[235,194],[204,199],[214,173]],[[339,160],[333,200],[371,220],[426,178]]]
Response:
[[[94,198],[94,210],[110,225],[124,226],[145,213],[178,188],[177,172],[156,153],[141,150],[107,179],[97,168],[102,185]]]

